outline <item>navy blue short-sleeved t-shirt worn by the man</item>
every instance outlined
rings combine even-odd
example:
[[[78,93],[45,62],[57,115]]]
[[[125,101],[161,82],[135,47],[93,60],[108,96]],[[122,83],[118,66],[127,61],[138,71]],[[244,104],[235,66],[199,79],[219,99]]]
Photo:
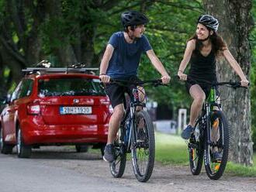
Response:
[[[114,47],[106,74],[112,78],[137,76],[142,53],[152,50],[147,37],[142,35],[133,43],[127,43],[123,32],[113,33],[109,43]]]

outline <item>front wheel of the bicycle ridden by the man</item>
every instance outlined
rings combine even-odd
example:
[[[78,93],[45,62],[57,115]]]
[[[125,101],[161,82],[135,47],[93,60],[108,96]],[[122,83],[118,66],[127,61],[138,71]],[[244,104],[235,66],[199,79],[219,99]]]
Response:
[[[133,122],[133,171],[140,182],[150,179],[154,168],[154,126],[147,111],[139,111]]]

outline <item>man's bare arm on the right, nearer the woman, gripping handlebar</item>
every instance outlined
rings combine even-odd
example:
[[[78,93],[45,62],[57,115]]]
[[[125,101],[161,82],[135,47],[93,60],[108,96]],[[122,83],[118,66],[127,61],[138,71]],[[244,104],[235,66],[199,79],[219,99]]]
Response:
[[[158,59],[158,57],[154,53],[154,50],[148,50],[146,53],[147,53],[147,57],[150,59],[151,63],[154,65],[154,67],[157,69],[157,71],[162,75],[162,77],[161,77],[162,82],[164,84],[168,84],[169,81],[171,80],[171,77],[165,70],[161,61]]]

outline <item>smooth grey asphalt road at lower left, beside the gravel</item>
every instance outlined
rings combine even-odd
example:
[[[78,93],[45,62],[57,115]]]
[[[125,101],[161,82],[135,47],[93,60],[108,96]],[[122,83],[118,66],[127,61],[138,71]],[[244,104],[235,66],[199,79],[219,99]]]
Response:
[[[57,158],[60,158],[59,155]],[[66,156],[64,159],[67,159],[69,155],[66,153],[61,156]],[[34,155],[32,159],[18,159],[16,155],[0,154],[0,191],[140,191],[134,187],[109,182],[104,177],[93,177],[86,173],[79,173],[77,170],[49,165],[49,161],[54,164],[58,161],[64,161],[64,159],[55,159],[55,157],[54,153],[49,152],[46,155],[46,158],[49,159],[41,159],[43,158],[41,153]],[[109,177],[109,174],[107,175]]]

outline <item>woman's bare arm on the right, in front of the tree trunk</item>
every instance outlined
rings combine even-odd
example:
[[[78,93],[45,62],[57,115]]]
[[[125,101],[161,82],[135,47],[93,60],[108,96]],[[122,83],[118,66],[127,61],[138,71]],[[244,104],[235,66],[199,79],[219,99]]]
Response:
[[[237,60],[234,59],[232,54],[230,53],[230,50],[225,49],[223,50],[223,56],[227,60],[228,63],[230,63],[230,66],[235,70],[237,75],[239,75],[241,79],[241,85],[244,87],[247,87],[247,84],[249,81],[247,81],[247,78],[245,77],[243,70],[241,69],[240,65],[237,63]]]

